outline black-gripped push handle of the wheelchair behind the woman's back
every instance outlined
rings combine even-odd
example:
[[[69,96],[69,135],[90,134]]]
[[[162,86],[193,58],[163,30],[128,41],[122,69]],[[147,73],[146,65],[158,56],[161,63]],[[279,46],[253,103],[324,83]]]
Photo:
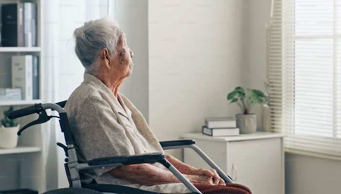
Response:
[[[37,113],[41,108],[44,110],[53,109],[53,110],[56,110],[58,113],[63,113],[64,111],[62,108],[65,106],[65,104],[66,104],[66,100],[57,102],[56,104],[53,104],[53,103],[35,104],[33,106],[25,107],[16,111],[11,111],[10,113],[8,113],[8,118],[15,119],[15,118],[19,118],[22,116],[34,114],[34,113]]]

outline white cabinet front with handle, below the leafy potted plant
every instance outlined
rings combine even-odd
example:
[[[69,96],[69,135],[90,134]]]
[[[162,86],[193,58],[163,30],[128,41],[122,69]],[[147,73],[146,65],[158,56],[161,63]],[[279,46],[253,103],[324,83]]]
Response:
[[[227,145],[227,174],[254,194],[283,193],[280,138],[236,141]]]

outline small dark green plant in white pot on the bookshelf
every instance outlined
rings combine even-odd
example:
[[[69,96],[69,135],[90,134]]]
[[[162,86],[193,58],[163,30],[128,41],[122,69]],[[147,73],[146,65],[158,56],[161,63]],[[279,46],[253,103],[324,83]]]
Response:
[[[0,148],[14,148],[18,144],[19,130],[18,122],[13,119],[8,119],[8,113],[13,111],[13,106],[3,112],[3,119],[1,119],[0,126]]]

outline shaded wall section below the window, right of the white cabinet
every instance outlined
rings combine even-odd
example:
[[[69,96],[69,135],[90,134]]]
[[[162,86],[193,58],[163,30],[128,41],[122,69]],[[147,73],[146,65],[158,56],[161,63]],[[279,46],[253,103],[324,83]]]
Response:
[[[285,153],[285,193],[340,194],[341,161]]]

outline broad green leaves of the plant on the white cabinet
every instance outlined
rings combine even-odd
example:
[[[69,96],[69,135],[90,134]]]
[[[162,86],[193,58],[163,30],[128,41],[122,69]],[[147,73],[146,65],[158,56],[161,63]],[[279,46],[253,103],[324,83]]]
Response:
[[[243,114],[249,114],[255,104],[262,104],[267,101],[267,96],[260,90],[251,90],[242,87],[236,87],[227,95],[227,100],[231,103],[236,103],[242,110]]]

